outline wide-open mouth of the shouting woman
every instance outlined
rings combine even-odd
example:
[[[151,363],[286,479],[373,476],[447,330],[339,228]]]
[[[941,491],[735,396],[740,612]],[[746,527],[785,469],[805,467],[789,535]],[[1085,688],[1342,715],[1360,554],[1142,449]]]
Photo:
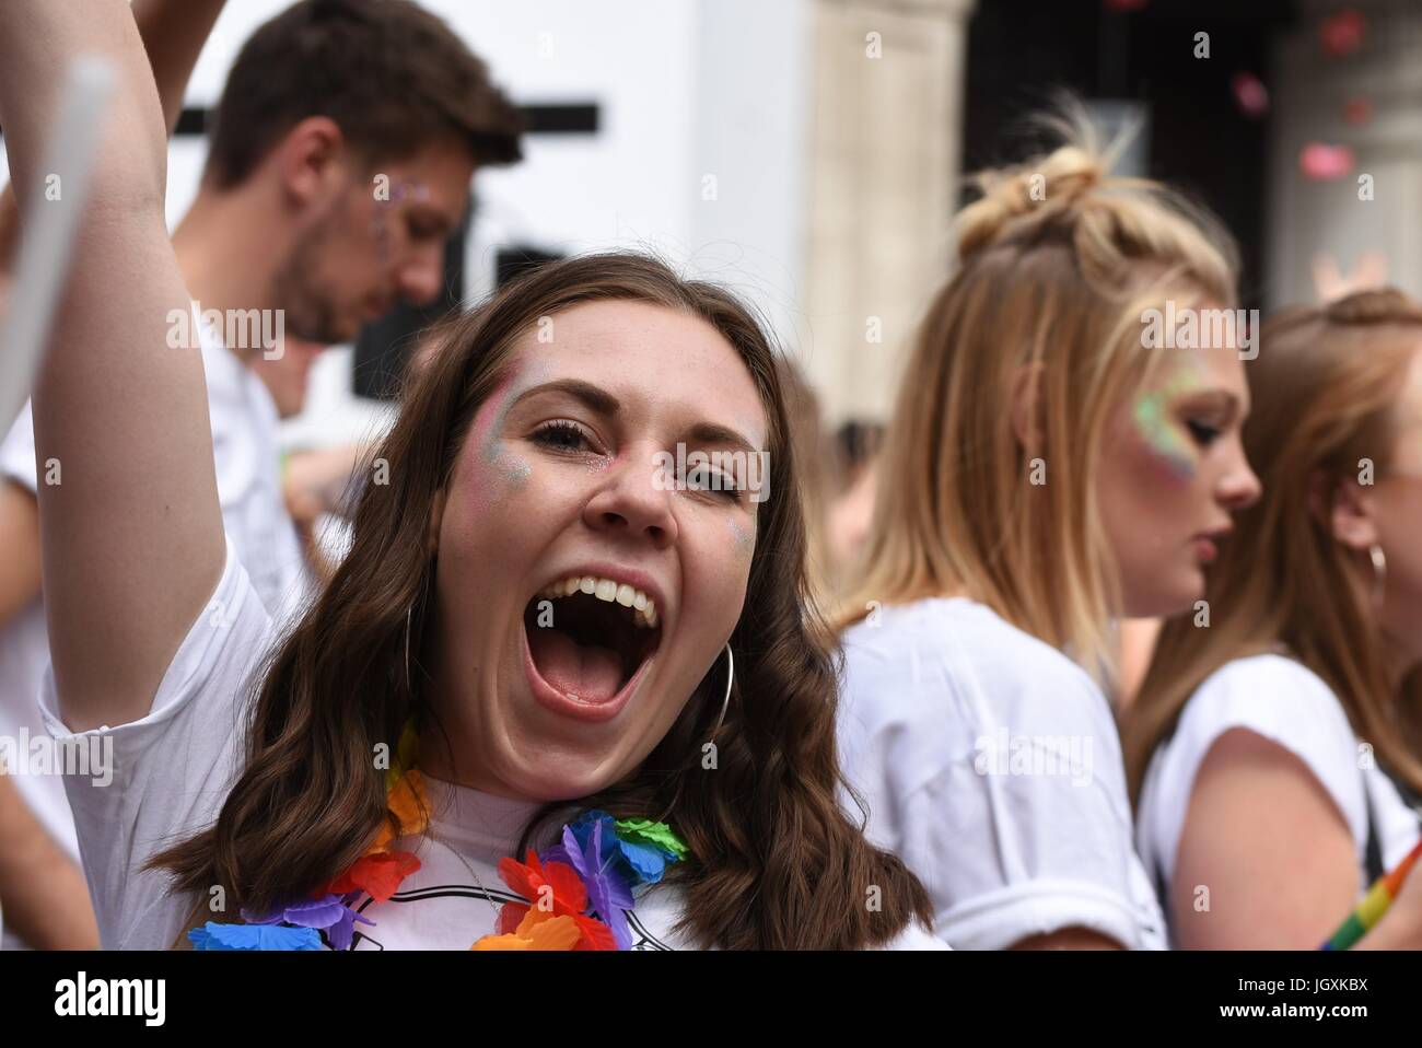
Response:
[[[582,720],[616,717],[661,643],[656,603],[614,579],[569,576],[523,610],[533,697]]]

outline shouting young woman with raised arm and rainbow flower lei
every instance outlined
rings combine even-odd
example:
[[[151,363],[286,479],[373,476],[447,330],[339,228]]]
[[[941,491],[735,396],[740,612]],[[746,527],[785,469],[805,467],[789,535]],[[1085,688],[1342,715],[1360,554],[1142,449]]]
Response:
[[[455,320],[350,555],[273,636],[223,542],[201,361],[165,341],[188,294],[122,0],[0,9],[11,161],[34,168],[54,55],[80,51],[121,75],[34,425],[65,464],[40,492],[43,702],[114,747],[111,786],[68,784],[104,943],[933,943],[921,886],[838,806],[835,678],[751,316],[593,256]],[[658,469],[678,445],[710,465]],[[761,491],[722,469],[751,454]]]

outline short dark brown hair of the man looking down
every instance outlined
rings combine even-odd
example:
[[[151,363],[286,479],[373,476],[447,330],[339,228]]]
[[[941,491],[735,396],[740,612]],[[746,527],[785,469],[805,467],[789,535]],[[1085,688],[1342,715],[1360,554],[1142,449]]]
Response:
[[[206,178],[246,179],[296,124],[328,117],[371,162],[462,145],[522,158],[518,108],[445,23],[410,0],[301,0],[243,44],[213,114]]]

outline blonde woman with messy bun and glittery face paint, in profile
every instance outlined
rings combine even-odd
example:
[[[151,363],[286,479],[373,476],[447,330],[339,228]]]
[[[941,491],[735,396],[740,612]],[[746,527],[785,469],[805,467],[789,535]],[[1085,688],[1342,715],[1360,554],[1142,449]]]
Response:
[[[1054,128],[980,176],[912,348],[839,619],[840,745],[950,944],[1153,948],[1101,685],[1113,620],[1189,609],[1258,493],[1236,340],[1156,347],[1145,324],[1233,309],[1236,262],[1206,213],[1111,173],[1123,139]]]

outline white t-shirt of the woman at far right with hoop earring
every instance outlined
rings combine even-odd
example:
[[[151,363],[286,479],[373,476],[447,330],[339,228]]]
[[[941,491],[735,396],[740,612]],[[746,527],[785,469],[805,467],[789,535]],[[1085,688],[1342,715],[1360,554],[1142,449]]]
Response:
[[[1136,843],[1146,869],[1175,876],[1194,776],[1224,732],[1247,728],[1294,754],[1338,805],[1358,855],[1358,893],[1368,889],[1368,799],[1382,865],[1392,869],[1418,842],[1418,813],[1376,768],[1348,724],[1332,690],[1284,656],[1251,656],[1224,664],[1196,688],[1175,732],[1150,758],[1140,788]],[[1367,795],[1364,793],[1367,789]]]

